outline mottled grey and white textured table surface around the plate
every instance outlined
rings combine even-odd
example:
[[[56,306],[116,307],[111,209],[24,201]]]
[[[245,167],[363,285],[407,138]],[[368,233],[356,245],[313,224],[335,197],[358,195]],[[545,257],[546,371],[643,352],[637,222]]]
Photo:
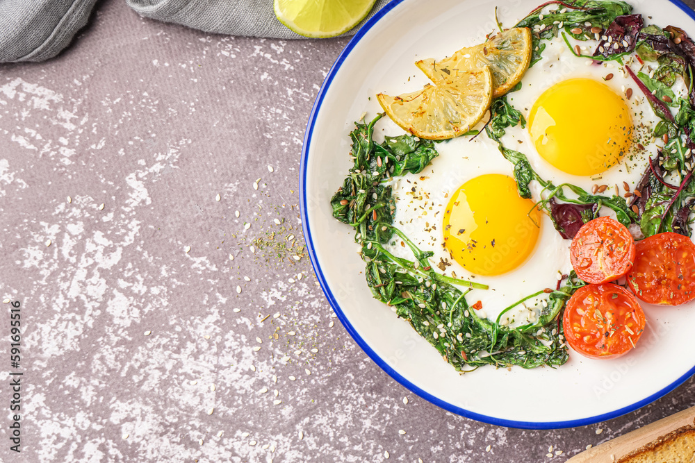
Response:
[[[207,35],[109,0],[55,60],[0,68],[0,297],[24,323],[22,453],[6,355],[3,462],[564,461],[695,405],[691,378],[606,423],[500,428],[366,357],[297,206],[306,121],[346,43]]]

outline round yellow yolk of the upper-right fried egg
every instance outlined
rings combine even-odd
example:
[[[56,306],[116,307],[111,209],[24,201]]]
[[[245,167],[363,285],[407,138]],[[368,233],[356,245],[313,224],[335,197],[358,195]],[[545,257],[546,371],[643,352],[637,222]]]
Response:
[[[632,119],[607,85],[573,78],[536,100],[528,130],[539,155],[567,174],[589,176],[616,165],[630,146]]]

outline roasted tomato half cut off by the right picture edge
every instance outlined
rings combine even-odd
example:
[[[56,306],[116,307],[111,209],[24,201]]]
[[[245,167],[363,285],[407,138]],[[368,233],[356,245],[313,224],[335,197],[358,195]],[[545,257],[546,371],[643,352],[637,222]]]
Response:
[[[628,285],[642,301],[680,305],[695,299],[695,244],[678,233],[659,233],[637,242]]]

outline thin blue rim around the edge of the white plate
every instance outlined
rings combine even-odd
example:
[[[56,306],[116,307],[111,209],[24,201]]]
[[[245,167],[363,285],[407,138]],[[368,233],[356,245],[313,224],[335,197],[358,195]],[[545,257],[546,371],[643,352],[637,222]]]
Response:
[[[300,214],[302,217],[302,226],[304,226],[304,240],[306,242],[306,249],[309,253],[309,259],[311,260],[311,265],[313,266],[314,271],[316,272],[316,277],[318,278],[318,282],[321,286],[321,289],[323,290],[326,298],[328,299],[329,304],[333,308],[334,312],[336,312],[336,315],[338,316],[338,319],[343,323],[343,326],[345,326],[345,329],[347,330],[348,334],[354,339],[355,342],[357,342],[357,345],[360,346],[360,348],[372,359],[382,370],[386,371],[391,378],[396,380],[397,382],[400,383],[403,387],[408,389],[410,392],[413,392],[417,396],[420,396],[424,398],[426,401],[429,401],[430,403],[433,403],[434,405],[443,408],[444,410],[447,410],[448,412],[452,412],[461,416],[465,416],[466,418],[469,419],[474,419],[476,421],[482,421],[483,423],[488,423],[488,424],[493,424],[496,426],[506,426],[508,428],[521,428],[521,429],[538,429],[538,430],[553,430],[553,429],[563,429],[563,428],[575,428],[577,426],[587,426],[591,425],[594,423],[600,423],[601,421],[606,421],[609,419],[617,418],[618,416],[621,416],[623,414],[633,412],[641,407],[644,407],[644,405],[648,405],[649,403],[652,403],[653,401],[657,400],[658,398],[661,398],[668,394],[669,392],[673,391],[673,389],[676,389],[676,387],[680,386],[683,382],[685,382],[688,378],[693,376],[695,374],[695,366],[690,369],[687,373],[685,373],[683,376],[680,376],[677,380],[673,381],[670,385],[667,387],[664,387],[658,392],[655,392],[654,394],[651,394],[651,396],[648,396],[641,401],[637,401],[636,403],[633,403],[632,405],[628,405],[627,407],[622,407],[619,408],[618,410],[614,410],[612,412],[604,413],[604,414],[599,414],[595,416],[590,416],[589,418],[584,418],[584,419],[575,419],[575,420],[568,420],[568,421],[516,421],[516,420],[508,420],[508,419],[500,419],[496,418],[494,416],[487,416],[484,414],[480,413],[475,413],[471,412],[469,410],[466,410],[462,407],[457,407],[456,405],[452,405],[446,401],[443,401],[441,398],[438,398],[436,396],[433,396],[432,394],[426,392],[423,389],[420,389],[420,387],[417,387],[414,385],[412,382],[404,378],[403,376],[400,375],[397,371],[395,371],[393,368],[389,367],[389,364],[387,364],[382,357],[379,357],[375,351],[367,344],[367,342],[362,339],[362,337],[357,333],[357,330],[354,329],[352,326],[352,323],[347,320],[347,317],[345,317],[345,314],[343,313],[343,310],[340,308],[340,305],[338,305],[338,302],[336,301],[330,287],[328,286],[328,283],[325,279],[325,276],[323,275],[323,272],[321,271],[320,264],[318,263],[318,258],[316,257],[316,251],[313,246],[313,238],[311,235],[311,224],[309,223],[309,217],[307,216],[306,212],[306,204],[307,204],[307,199],[306,199],[306,165],[308,162],[309,158],[309,148],[311,146],[311,135],[313,135],[313,128],[314,124],[316,123],[316,116],[318,115],[318,112],[321,108],[321,103],[323,102],[323,99],[325,98],[326,92],[328,91],[328,88],[330,87],[334,77],[336,76],[338,70],[341,68],[341,65],[343,65],[343,62],[345,61],[345,58],[350,54],[352,49],[357,45],[357,43],[364,37],[364,35],[371,29],[373,26],[379,22],[379,19],[382,19],[384,15],[386,15],[389,11],[393,10],[395,6],[398,6],[400,3],[402,3],[404,0],[391,0],[384,8],[381,10],[377,11],[373,17],[371,17],[368,22],[362,26],[359,31],[352,37],[352,40],[347,43],[347,46],[341,54],[338,56],[336,59],[336,62],[334,62],[334,65],[331,67],[330,71],[328,72],[325,80],[323,81],[323,84],[321,85],[321,88],[318,92],[318,95],[316,96],[316,101],[314,102],[313,108],[311,108],[311,113],[309,115],[309,121],[306,124],[306,132],[304,133],[304,143],[302,147],[302,160],[300,162],[300,185],[299,185],[299,190],[300,190]],[[685,14],[687,14],[689,17],[695,20],[695,11],[692,10],[689,6],[687,6],[682,0],[667,0],[673,3],[674,5],[678,6]]]

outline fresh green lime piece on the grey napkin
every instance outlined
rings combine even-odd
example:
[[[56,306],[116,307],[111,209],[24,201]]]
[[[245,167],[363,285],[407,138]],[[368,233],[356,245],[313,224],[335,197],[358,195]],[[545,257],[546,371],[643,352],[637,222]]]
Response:
[[[275,16],[304,37],[335,37],[350,31],[376,0],[274,0]]]

